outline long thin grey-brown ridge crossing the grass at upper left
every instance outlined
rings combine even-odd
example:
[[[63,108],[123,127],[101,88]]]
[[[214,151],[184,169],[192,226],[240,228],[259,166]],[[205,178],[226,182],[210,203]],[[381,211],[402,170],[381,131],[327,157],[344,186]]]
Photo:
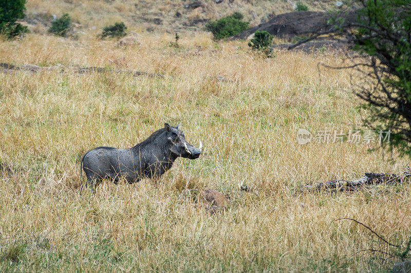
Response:
[[[72,67],[70,68],[71,71],[78,74],[85,74],[85,73],[116,73],[116,74],[130,74],[132,76],[148,76],[148,77],[166,77],[163,74],[156,74],[156,73],[148,73],[142,71],[133,71],[128,69],[113,69],[113,68],[105,68],[105,67]],[[67,69],[67,70],[70,70]],[[9,70],[20,70],[20,71],[29,71],[33,73],[40,72],[42,70],[60,70],[59,72],[64,72],[64,68],[62,66],[52,66],[52,67],[39,67],[36,65],[22,65],[22,66],[15,66],[11,64],[6,64],[5,62],[0,62],[0,71],[9,72]]]

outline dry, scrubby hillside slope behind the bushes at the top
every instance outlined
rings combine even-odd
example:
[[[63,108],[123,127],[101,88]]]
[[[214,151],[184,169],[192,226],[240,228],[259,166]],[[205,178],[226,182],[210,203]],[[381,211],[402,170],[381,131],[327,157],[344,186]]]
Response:
[[[199,7],[195,8],[201,4]],[[302,1],[309,10],[320,11],[334,6],[334,2]],[[192,5],[194,4],[194,5]],[[295,3],[284,0],[223,0],[216,1],[153,1],[153,0],[28,0],[26,21],[37,30],[50,24],[53,15],[67,12],[80,29],[99,32],[103,26],[123,21],[130,30],[138,32],[185,32],[203,29],[210,19],[217,19],[239,11],[250,26],[267,22],[272,16],[294,10]],[[188,7],[188,8],[186,8]]]

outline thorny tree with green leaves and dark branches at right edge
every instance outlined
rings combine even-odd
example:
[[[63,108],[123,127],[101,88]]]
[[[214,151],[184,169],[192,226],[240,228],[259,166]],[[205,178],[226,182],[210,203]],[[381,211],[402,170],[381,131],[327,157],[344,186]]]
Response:
[[[365,124],[379,132],[391,130],[390,148],[411,157],[411,1],[356,0],[357,20],[333,16],[328,34],[359,53],[351,57],[362,83],[355,91],[369,110]],[[341,67],[340,67],[341,68]]]

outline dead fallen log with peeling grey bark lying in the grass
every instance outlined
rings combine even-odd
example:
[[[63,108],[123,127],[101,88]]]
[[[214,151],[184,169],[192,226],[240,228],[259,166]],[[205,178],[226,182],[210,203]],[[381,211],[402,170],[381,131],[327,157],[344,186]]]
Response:
[[[331,180],[315,184],[307,184],[300,187],[300,192],[313,191],[345,191],[354,190],[364,185],[376,185],[381,183],[402,183],[405,179],[411,177],[411,172],[402,174],[385,174],[385,173],[365,173],[365,176],[357,180]]]

